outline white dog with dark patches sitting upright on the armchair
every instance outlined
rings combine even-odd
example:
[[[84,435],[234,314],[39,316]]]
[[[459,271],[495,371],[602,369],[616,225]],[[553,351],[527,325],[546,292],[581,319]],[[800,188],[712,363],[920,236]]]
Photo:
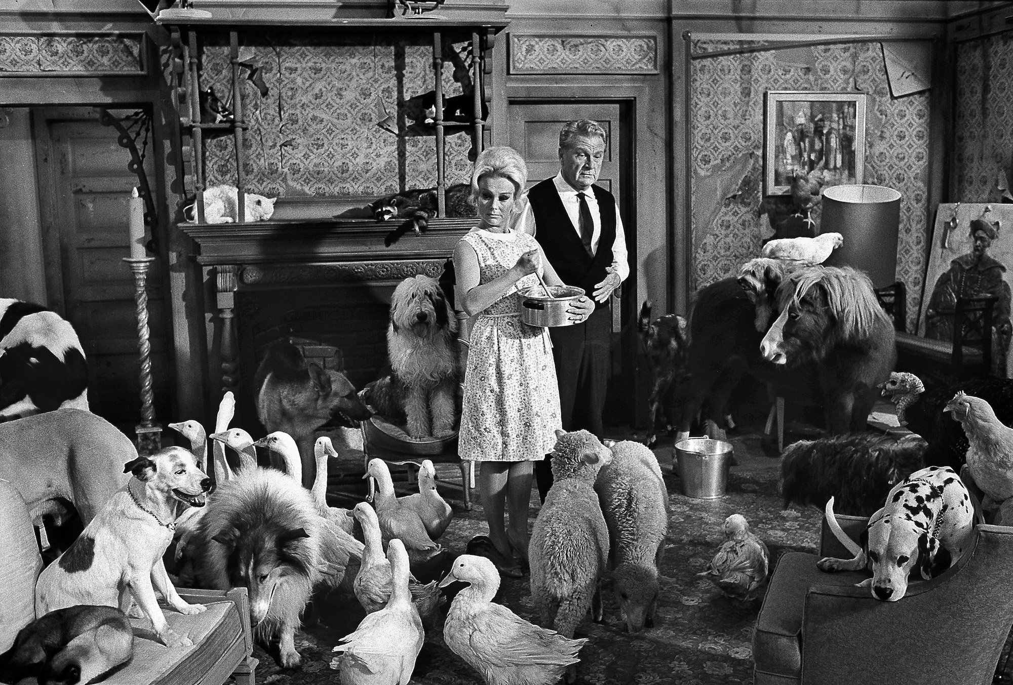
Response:
[[[181,614],[205,610],[204,605],[179,597],[162,555],[172,541],[178,503],[203,507],[211,478],[197,467],[192,453],[181,447],[138,457],[127,463],[125,471],[133,471],[134,478],[38,577],[35,615],[75,604],[126,612],[133,596],[163,644],[189,646],[189,637],[169,628],[155,590]]]

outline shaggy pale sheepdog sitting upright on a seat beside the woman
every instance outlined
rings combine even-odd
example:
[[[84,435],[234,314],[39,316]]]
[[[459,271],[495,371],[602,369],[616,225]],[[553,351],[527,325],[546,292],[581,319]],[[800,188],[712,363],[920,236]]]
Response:
[[[394,289],[387,327],[390,379],[372,388],[377,413],[404,415],[412,438],[454,432],[459,378],[457,319],[436,279],[407,278]]]

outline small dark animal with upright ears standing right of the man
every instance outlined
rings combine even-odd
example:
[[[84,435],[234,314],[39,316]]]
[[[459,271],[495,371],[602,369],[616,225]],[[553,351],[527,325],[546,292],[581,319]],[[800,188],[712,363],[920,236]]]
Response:
[[[647,447],[657,442],[657,426],[661,421],[671,428],[679,418],[679,388],[689,377],[686,351],[689,347],[686,319],[676,314],[666,314],[650,320],[650,301],[640,308],[637,330],[646,351],[653,385],[650,390],[650,428],[647,429]]]

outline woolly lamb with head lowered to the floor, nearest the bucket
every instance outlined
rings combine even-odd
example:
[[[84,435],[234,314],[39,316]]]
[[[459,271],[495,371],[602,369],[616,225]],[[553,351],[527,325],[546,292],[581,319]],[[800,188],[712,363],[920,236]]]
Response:
[[[617,443],[595,489],[612,539],[606,579],[613,582],[626,628],[653,627],[669,530],[669,492],[654,453],[640,443]]]

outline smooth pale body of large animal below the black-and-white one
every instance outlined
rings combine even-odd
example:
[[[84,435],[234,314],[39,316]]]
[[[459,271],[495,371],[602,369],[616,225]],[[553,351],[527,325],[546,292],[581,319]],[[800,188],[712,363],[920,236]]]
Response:
[[[88,525],[130,479],[123,465],[137,459],[130,438],[100,416],[57,409],[0,424],[0,478],[14,484],[32,521],[67,515],[59,500],[74,505]]]

